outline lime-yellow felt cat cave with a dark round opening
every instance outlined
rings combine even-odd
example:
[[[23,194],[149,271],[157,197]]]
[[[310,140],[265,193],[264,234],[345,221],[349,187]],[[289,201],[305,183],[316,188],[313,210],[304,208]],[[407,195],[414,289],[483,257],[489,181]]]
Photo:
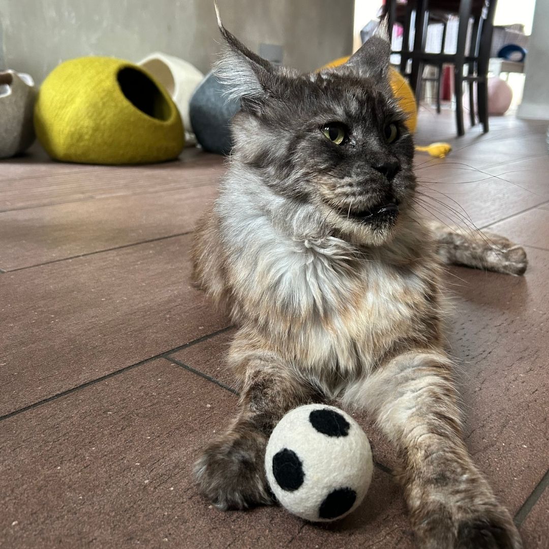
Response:
[[[147,71],[110,57],[65,61],[43,82],[36,135],[52,158],[143,164],[176,158],[184,145],[176,105]]]

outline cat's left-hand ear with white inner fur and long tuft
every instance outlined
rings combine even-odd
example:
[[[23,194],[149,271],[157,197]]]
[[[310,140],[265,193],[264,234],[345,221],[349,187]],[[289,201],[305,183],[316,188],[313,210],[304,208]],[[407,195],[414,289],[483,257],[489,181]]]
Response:
[[[214,2],[217,25],[227,42],[225,51],[214,66],[216,76],[226,84],[226,96],[240,99],[242,108],[259,108],[277,87],[276,68],[266,59],[250,51],[221,23],[217,3]]]

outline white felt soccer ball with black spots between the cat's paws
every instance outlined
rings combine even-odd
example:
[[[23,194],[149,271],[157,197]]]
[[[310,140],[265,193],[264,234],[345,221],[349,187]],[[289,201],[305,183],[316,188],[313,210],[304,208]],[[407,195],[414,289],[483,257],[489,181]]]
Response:
[[[276,425],[265,452],[273,494],[312,522],[343,518],[372,480],[368,437],[349,414],[322,404],[294,408]]]

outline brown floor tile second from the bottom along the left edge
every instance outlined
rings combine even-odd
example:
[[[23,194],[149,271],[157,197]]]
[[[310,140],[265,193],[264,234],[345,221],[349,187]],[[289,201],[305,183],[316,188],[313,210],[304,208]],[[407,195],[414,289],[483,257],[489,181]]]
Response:
[[[191,239],[0,275],[0,415],[227,326],[191,287]]]

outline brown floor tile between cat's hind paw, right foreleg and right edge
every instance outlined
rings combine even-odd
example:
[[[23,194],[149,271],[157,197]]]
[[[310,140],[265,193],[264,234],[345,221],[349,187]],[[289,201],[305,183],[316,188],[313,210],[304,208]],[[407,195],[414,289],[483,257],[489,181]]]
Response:
[[[529,249],[524,277],[453,268],[452,355],[467,445],[514,513],[547,469],[549,252]]]

